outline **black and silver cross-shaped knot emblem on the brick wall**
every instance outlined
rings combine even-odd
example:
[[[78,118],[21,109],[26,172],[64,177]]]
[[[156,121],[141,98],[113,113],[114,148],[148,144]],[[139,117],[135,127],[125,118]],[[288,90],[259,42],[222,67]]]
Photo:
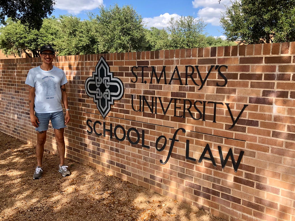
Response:
[[[120,100],[124,93],[122,81],[113,77],[103,57],[99,59],[95,72],[92,72],[92,77],[86,79],[85,90],[87,95],[93,98],[103,118],[111,110],[114,100]]]

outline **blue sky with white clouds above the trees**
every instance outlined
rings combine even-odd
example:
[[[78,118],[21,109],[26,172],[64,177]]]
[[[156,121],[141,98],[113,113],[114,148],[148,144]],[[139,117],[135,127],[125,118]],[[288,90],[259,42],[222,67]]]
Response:
[[[87,19],[87,12],[98,14],[98,6],[105,7],[118,4],[132,5],[146,23],[146,27],[157,27],[162,29],[167,26],[171,17],[193,16],[202,18],[207,24],[205,32],[215,37],[223,37],[223,29],[219,24],[220,14],[225,11],[224,5],[229,5],[230,0],[56,0],[52,15],[58,17],[61,14],[72,14]]]

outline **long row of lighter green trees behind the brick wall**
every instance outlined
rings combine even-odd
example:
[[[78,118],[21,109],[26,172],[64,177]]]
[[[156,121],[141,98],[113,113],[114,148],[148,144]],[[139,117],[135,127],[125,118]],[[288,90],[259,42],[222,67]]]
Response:
[[[171,19],[167,31],[144,28],[142,18],[131,6],[115,5],[99,10],[99,15],[89,14],[89,19],[83,21],[72,15],[45,18],[39,30],[9,18],[6,26],[0,27],[0,49],[6,55],[20,56],[25,52],[37,57],[44,44],[53,45],[59,55],[230,45],[202,34],[204,22],[193,17]]]

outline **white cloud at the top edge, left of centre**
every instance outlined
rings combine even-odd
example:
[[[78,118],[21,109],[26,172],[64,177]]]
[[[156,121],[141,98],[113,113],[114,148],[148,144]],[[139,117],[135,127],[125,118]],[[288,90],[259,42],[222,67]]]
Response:
[[[81,11],[91,11],[103,4],[103,0],[56,0],[55,8],[68,11],[70,14],[79,14]]]

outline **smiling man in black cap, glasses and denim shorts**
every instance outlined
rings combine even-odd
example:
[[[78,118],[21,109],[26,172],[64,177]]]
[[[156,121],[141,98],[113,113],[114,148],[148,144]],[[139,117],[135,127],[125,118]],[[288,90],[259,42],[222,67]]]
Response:
[[[65,141],[63,136],[65,125],[71,119],[68,96],[65,91],[65,84],[68,81],[65,72],[52,64],[55,51],[51,45],[41,47],[40,57],[42,58],[42,65],[30,69],[25,82],[29,88],[30,119],[37,131],[37,167],[33,179],[42,177],[42,158],[49,121],[51,121],[54,128],[55,140],[58,146],[60,160],[58,172],[63,177],[66,177],[71,175],[68,166],[64,165]],[[66,111],[65,116],[60,100],[62,100]]]

